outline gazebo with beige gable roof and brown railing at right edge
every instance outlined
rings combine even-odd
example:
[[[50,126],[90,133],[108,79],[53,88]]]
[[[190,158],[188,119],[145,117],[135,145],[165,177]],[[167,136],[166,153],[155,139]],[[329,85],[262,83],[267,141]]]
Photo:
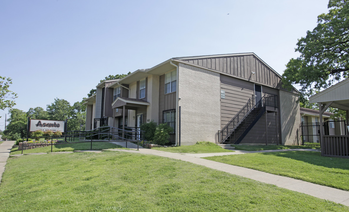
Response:
[[[309,97],[310,103],[319,103],[320,126],[322,126],[322,114],[328,107],[334,107],[346,111],[346,123],[349,121],[349,78],[332,85],[331,87]],[[349,131],[349,129],[346,129]],[[324,129],[320,127],[321,156],[349,158],[348,135],[324,135]]]

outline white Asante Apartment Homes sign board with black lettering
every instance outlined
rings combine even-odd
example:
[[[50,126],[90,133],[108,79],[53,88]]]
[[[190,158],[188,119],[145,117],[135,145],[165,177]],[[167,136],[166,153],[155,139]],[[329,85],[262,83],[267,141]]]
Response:
[[[65,121],[31,119],[29,131],[33,132],[36,130],[41,130],[41,131],[51,130],[55,132],[60,130],[61,132],[64,132],[64,122]]]

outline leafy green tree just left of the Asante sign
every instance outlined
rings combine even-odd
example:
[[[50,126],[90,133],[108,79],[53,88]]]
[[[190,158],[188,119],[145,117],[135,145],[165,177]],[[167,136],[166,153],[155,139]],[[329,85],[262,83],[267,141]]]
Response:
[[[11,108],[8,114],[11,114],[10,118],[7,119],[9,123],[3,133],[7,136],[18,133],[22,138],[27,137],[27,113],[20,109]]]

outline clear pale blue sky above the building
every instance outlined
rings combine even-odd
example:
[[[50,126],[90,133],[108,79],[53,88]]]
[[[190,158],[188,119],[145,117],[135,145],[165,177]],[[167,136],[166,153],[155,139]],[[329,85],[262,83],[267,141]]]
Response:
[[[279,74],[328,0],[0,1],[0,75],[14,108],[74,104],[100,79],[181,56],[254,52]],[[229,14],[229,15],[228,15]],[[4,129],[6,111],[0,111]]]

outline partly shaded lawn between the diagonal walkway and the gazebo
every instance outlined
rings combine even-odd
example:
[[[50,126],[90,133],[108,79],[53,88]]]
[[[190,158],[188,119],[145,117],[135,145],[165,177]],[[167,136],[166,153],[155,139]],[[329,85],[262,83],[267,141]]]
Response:
[[[321,157],[320,152],[248,153],[205,159],[349,191],[349,160]]]

